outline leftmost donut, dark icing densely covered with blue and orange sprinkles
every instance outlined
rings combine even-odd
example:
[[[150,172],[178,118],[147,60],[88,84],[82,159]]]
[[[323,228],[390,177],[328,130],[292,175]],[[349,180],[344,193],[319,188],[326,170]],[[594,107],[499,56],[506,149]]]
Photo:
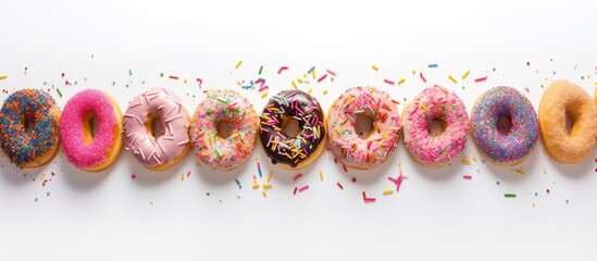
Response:
[[[0,147],[18,167],[45,165],[58,152],[59,122],[60,109],[47,92],[37,89],[13,92],[0,111]]]

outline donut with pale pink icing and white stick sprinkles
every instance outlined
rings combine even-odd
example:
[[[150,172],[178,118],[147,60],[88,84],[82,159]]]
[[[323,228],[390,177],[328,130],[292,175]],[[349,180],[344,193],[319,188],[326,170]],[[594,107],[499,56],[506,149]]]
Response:
[[[153,122],[163,133],[156,138]],[[189,119],[183,101],[172,90],[153,88],[128,102],[124,114],[124,149],[152,171],[164,171],[181,161],[190,148]]]

